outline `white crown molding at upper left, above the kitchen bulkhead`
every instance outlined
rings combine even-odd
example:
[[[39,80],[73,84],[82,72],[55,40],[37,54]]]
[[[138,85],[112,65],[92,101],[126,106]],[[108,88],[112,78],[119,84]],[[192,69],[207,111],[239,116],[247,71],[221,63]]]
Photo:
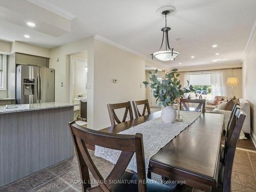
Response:
[[[51,11],[59,16],[62,16],[62,17],[65,17],[69,20],[73,20],[74,18],[76,18],[76,15],[68,12],[68,11],[65,11],[63,9],[60,9],[59,7],[57,6],[54,6],[50,3],[47,3],[45,1],[42,1],[42,0],[27,0],[28,2],[32,3],[32,4],[35,4],[37,5],[38,7],[41,7],[41,8],[44,8],[44,9],[47,9],[48,11]]]

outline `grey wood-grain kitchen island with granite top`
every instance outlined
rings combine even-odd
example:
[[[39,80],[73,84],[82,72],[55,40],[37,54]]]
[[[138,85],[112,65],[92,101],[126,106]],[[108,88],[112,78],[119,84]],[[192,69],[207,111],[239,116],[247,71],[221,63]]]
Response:
[[[70,103],[17,111],[0,106],[0,187],[74,156],[68,127],[73,117]]]

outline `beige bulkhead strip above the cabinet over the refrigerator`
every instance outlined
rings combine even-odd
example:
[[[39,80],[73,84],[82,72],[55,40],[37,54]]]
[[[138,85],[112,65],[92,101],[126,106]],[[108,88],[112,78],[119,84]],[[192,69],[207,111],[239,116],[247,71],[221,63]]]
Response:
[[[37,55],[41,57],[50,57],[50,49],[34,46],[31,44],[26,44],[25,42],[21,41],[13,41],[12,42],[12,53],[26,53],[30,55]]]

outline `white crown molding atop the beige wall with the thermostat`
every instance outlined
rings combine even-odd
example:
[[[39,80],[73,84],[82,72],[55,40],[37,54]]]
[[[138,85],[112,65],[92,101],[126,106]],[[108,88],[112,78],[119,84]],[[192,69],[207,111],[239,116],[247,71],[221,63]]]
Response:
[[[127,51],[127,52],[129,52],[129,53],[132,53],[132,54],[134,54],[134,55],[137,55],[137,56],[139,56],[139,57],[142,57],[142,58],[144,58],[145,60],[147,60],[147,61],[149,61],[149,62],[152,62],[152,63],[154,63],[155,65],[159,66],[159,68],[165,68],[165,69],[166,69],[166,68],[167,68],[167,69],[170,68],[169,66],[165,65],[164,63],[161,63],[161,62],[157,62],[157,61],[155,61],[155,60],[152,60],[152,59],[148,58],[148,57],[147,57],[146,55],[144,55],[144,54],[141,54],[141,53],[139,53],[139,52],[137,52],[137,51],[134,51],[134,50],[132,50],[132,49],[130,49],[130,48],[124,47],[124,46],[118,44],[117,42],[114,42],[114,41],[112,41],[112,40],[109,40],[109,39],[107,39],[107,38],[105,38],[105,37],[102,37],[102,36],[100,36],[100,35],[94,35],[93,37],[94,37],[95,39],[97,39],[97,40],[100,40],[100,41],[105,42],[106,44],[112,45],[112,46],[114,46],[114,47],[117,47],[117,48],[122,49],[122,50],[124,50],[124,51]]]

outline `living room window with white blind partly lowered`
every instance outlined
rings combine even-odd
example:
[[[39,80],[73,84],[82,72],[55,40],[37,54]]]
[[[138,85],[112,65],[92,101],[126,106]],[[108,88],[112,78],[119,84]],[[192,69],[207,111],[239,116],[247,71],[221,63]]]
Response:
[[[191,93],[191,98],[199,98],[202,95],[203,99],[212,100],[210,73],[190,73],[190,84],[196,90]]]

